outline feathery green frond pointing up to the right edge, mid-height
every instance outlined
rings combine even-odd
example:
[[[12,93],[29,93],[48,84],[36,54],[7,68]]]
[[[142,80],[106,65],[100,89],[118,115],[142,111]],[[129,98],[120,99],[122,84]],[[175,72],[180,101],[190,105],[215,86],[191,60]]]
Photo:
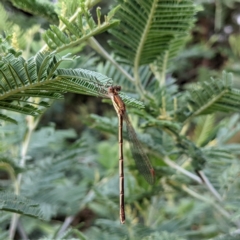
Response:
[[[179,114],[185,112],[185,121],[199,115],[215,112],[235,112],[240,108],[240,91],[232,87],[232,74],[223,72],[222,79],[210,79],[193,85],[188,90],[188,106],[184,106]]]

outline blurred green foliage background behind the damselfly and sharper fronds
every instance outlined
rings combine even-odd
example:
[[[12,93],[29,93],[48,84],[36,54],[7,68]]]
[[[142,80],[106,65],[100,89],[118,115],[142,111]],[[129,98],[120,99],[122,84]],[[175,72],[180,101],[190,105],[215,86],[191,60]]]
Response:
[[[47,18],[47,15],[41,16],[37,11],[30,13],[24,8],[19,9],[14,2],[17,1],[0,2],[0,31],[2,35],[15,33],[14,47],[21,49],[23,56],[29,58],[44,45],[41,34],[49,28],[49,24],[57,24],[58,18],[50,8]],[[38,1],[39,4],[45,2]],[[233,73],[233,85],[239,89],[240,1],[194,2],[201,11],[196,15],[186,46],[168,70],[168,75],[175,80],[176,91],[181,93],[196,82],[211,77],[219,78],[223,70]],[[97,6],[101,6],[104,15],[113,4],[114,1],[102,0]],[[95,8],[92,14],[96,18]],[[96,36],[107,51],[111,49],[108,45],[111,38],[108,32]],[[104,69],[106,60],[87,44],[67,51],[72,51],[80,58],[64,63],[66,68],[85,68],[98,72]],[[134,113],[134,110],[131,111]],[[10,129],[4,128],[4,136],[9,140],[7,146],[1,144],[0,147],[2,151],[8,149],[11,158],[17,159],[27,127],[26,121],[31,120],[18,114],[13,116],[19,124],[11,125]],[[194,126],[199,122],[208,122],[208,143],[211,145],[211,141],[220,141],[230,134],[227,143],[233,144],[234,154],[239,157],[239,118],[238,113],[219,113],[215,119],[220,124],[215,126],[211,115],[203,117],[192,123],[186,135],[197,142]],[[138,127],[138,116],[131,115],[131,120],[136,131],[142,132]],[[111,128],[106,131],[108,126]],[[207,163],[206,173],[212,171],[209,178],[213,185],[221,191],[224,199],[229,198],[226,205],[219,203],[221,208],[216,210],[204,185],[169,168],[151,151],[157,182],[149,186],[136,170],[126,141],[127,221],[125,225],[120,225],[116,126],[113,107],[101,98],[67,93],[64,100],[52,102],[31,136],[26,166],[20,168],[16,165],[14,169],[15,173],[24,175],[21,194],[41,203],[44,220],[22,216],[14,239],[240,239],[239,235],[235,235],[238,230],[233,227],[234,223],[239,224],[240,214],[237,210],[240,194],[237,157],[220,162],[212,158]],[[218,129],[212,133],[215,127]],[[154,131],[148,129],[148,134],[156,136],[158,130]],[[142,138],[143,142],[151,142],[147,136],[144,138],[144,134]],[[149,143],[157,151],[167,152],[172,147],[172,143],[164,140],[164,136],[158,140],[157,143]],[[203,146],[204,140],[198,143]],[[189,162],[180,159],[179,165],[184,168]],[[6,170],[1,166],[1,189],[12,189],[14,177],[10,172],[11,169]],[[193,187],[196,194],[185,186]],[[230,216],[224,212],[226,209],[231,213]],[[11,217],[12,213],[1,212],[0,239],[8,238]]]

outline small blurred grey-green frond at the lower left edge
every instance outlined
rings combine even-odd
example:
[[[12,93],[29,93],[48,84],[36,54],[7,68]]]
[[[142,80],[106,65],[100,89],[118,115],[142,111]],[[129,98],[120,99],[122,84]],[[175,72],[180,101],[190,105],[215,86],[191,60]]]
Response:
[[[0,210],[15,212],[34,218],[42,218],[39,204],[25,197],[7,192],[1,192],[0,194]]]

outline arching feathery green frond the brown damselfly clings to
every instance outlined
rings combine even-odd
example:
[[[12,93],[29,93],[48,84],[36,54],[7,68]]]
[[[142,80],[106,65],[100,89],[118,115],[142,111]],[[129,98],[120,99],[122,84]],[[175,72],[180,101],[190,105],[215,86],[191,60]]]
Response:
[[[12,54],[2,57],[0,109],[36,116],[48,106],[41,98],[61,99],[65,92],[105,96],[112,79],[89,70],[59,68],[62,61],[69,60],[67,56],[39,53],[27,61]],[[141,102],[123,93],[120,95],[126,104],[143,107]],[[14,122],[4,114],[0,117]]]

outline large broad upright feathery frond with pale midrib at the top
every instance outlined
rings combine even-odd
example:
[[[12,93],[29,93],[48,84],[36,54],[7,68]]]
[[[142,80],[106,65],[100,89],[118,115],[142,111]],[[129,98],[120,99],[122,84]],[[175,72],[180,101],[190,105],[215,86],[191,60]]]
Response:
[[[118,28],[111,30],[111,42],[121,61],[138,67],[161,57],[171,46],[172,58],[193,25],[196,9],[191,0],[123,1],[117,17]]]

